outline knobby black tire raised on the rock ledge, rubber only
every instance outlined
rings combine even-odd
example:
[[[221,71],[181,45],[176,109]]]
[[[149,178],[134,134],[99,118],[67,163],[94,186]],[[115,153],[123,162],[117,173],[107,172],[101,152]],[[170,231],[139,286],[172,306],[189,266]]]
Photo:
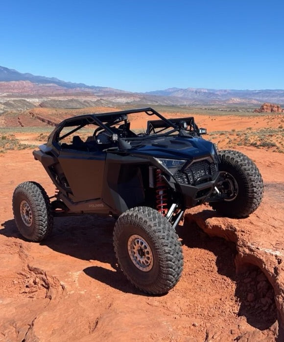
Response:
[[[237,196],[230,201],[213,202],[210,205],[220,214],[243,218],[254,212],[263,197],[263,181],[256,164],[238,151],[219,151],[219,171],[228,172],[237,182]]]

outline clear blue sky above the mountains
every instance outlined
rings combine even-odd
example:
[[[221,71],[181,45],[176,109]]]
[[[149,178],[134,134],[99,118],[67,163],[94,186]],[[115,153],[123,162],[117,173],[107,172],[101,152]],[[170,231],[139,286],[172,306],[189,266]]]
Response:
[[[284,1],[2,0],[0,65],[129,91],[284,89]]]

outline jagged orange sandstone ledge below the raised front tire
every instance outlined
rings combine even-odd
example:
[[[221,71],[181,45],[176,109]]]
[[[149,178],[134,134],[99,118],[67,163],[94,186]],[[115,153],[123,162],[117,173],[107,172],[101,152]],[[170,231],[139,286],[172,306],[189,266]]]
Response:
[[[253,214],[254,215],[254,214]],[[255,221],[255,220],[253,220]],[[188,210],[184,225],[195,222],[210,237],[222,237],[236,244],[235,258],[237,273],[245,271],[250,265],[255,265],[267,277],[275,293],[275,303],[278,311],[279,323],[284,326],[284,253],[283,244],[275,237],[267,236],[263,244],[259,243],[258,226],[252,225],[248,219],[230,219],[217,215],[209,207],[199,206]],[[252,232],[256,232],[253,238]],[[275,240],[276,242],[273,242]]]

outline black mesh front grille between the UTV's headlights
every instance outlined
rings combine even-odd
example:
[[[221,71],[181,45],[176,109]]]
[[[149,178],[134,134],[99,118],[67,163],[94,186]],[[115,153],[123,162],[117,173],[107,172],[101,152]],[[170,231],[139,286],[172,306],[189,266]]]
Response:
[[[201,160],[191,164],[184,172],[177,171],[175,177],[178,183],[193,185],[198,180],[200,180],[200,183],[208,182],[216,171],[217,167],[214,163],[208,160]],[[197,184],[200,183],[199,181],[197,182]]]

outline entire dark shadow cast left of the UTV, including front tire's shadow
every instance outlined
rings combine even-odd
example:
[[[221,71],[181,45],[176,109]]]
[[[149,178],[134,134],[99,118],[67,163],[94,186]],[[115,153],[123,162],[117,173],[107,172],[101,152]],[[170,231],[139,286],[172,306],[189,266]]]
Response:
[[[146,295],[129,283],[118,266],[113,247],[114,225],[112,217],[98,215],[55,218],[51,235],[41,244],[56,252],[90,261],[90,266],[83,269],[83,272],[101,283],[125,293]],[[37,243],[22,237],[14,219],[4,222],[2,227],[0,235]],[[110,264],[113,270],[92,265],[96,261]]]

